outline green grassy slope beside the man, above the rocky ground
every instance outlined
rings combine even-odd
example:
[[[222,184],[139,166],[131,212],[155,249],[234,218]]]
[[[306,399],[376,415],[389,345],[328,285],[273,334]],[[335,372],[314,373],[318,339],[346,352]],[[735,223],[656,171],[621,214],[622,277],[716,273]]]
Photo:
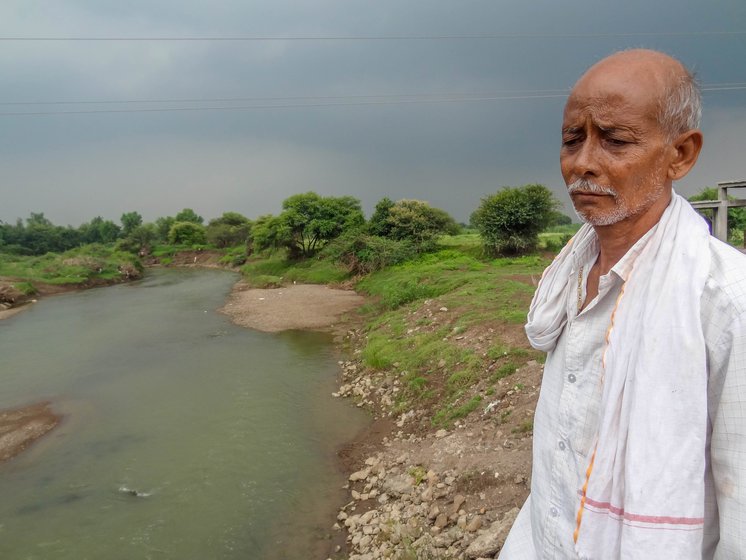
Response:
[[[464,236],[455,237],[463,243]],[[532,278],[538,280],[548,262],[538,256],[484,262],[449,248],[358,282],[358,290],[373,300],[361,310],[367,335],[363,363],[399,376],[395,409],[426,406],[434,425],[448,425],[480,405],[482,396],[473,394],[480,381],[494,383],[536,359],[535,351],[498,337],[486,355],[458,339],[469,337],[472,328],[523,323],[535,290]],[[497,370],[489,371],[496,361]]]

